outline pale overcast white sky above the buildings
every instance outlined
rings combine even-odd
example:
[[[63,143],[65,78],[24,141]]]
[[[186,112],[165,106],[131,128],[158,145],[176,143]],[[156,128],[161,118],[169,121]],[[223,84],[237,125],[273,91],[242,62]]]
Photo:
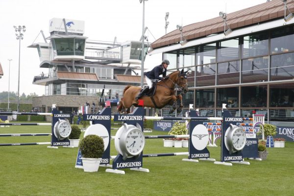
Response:
[[[147,0],[145,26],[149,31],[145,35],[149,43],[165,35],[166,12],[170,13],[169,33],[176,29],[176,25],[190,25],[219,17],[220,11],[231,13],[266,1]],[[0,63],[4,72],[0,79],[0,92],[8,91],[8,83],[10,91],[18,91],[19,40],[16,40],[14,25],[26,26],[21,41],[20,95],[45,94],[45,86],[34,85],[32,82],[35,75],[48,73],[48,69],[39,67],[37,49],[27,46],[44,42],[42,35],[37,37],[40,30],[49,37],[49,20],[52,18],[84,21],[84,36],[89,40],[113,41],[117,37],[118,42],[138,41],[142,35],[143,3],[140,0],[0,0],[0,8]],[[8,59],[12,59],[10,82]],[[161,54],[147,56],[144,68],[159,65],[161,60]]]

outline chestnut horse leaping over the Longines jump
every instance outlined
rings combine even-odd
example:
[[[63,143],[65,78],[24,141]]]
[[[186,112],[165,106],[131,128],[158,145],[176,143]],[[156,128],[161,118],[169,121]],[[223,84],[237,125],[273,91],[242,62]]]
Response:
[[[163,108],[169,104],[174,105],[173,109],[175,109],[175,101],[179,99],[181,101],[180,108],[182,108],[182,96],[175,96],[174,89],[180,88],[184,93],[188,92],[187,72],[184,72],[184,69],[182,69],[182,71],[175,71],[167,75],[167,79],[157,82],[156,91],[153,96],[142,96],[140,98],[144,100],[144,106],[152,108]],[[129,108],[132,105],[138,106],[138,101],[135,98],[140,93],[140,91],[141,88],[138,86],[126,86],[123,90],[123,98],[121,99],[117,108],[118,112],[124,111],[125,113],[129,113]]]

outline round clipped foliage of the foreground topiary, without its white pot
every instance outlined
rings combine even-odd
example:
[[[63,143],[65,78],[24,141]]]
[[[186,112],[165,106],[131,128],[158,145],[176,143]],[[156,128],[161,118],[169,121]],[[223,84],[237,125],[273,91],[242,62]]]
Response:
[[[79,148],[83,158],[101,158],[104,152],[103,139],[97,135],[87,135],[84,137]]]

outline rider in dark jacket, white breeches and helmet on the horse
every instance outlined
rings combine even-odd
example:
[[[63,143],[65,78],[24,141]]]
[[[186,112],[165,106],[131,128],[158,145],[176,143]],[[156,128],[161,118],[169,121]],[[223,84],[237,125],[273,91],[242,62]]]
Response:
[[[136,100],[138,100],[142,95],[144,95],[144,93],[147,93],[148,91],[151,90],[152,80],[154,80],[154,79],[164,80],[164,79],[168,78],[168,76],[166,76],[166,75],[167,75],[167,68],[168,68],[169,64],[170,64],[170,61],[167,59],[164,59],[162,61],[161,65],[157,65],[151,71],[145,73],[145,79],[146,79],[148,86],[145,87],[145,89],[141,90],[139,95],[136,97]],[[163,77],[159,76],[161,74]]]

